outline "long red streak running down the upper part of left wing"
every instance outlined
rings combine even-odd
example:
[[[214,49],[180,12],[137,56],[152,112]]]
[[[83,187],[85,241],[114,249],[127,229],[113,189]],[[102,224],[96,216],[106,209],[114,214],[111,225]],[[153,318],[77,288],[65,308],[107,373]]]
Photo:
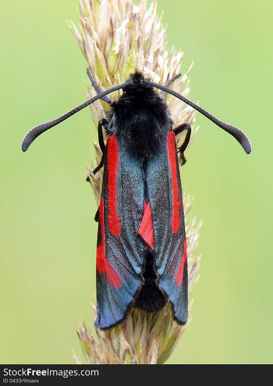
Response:
[[[110,135],[107,140],[107,167],[108,167],[108,223],[109,229],[118,237],[121,225],[116,211],[116,175],[118,174],[118,140],[115,135]]]

